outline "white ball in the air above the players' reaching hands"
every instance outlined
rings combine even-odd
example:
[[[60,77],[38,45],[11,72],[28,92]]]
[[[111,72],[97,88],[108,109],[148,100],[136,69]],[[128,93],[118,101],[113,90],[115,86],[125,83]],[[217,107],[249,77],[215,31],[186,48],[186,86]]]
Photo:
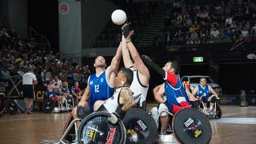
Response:
[[[116,9],[111,15],[114,24],[121,25],[126,21],[126,13],[121,9]]]

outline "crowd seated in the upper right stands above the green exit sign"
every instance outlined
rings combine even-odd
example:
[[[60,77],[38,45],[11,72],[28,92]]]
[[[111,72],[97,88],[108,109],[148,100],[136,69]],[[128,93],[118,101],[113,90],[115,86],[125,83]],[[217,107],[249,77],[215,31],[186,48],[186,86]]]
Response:
[[[155,44],[256,41],[256,2],[175,0]]]

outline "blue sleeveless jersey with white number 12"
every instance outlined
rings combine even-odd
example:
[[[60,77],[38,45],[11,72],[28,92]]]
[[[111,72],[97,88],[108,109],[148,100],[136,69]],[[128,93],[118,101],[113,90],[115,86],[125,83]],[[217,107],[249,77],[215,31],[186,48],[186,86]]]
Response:
[[[94,105],[97,100],[107,100],[114,94],[114,87],[108,85],[105,71],[99,76],[97,76],[96,73],[89,76],[88,84],[90,89],[88,103],[90,105]]]

